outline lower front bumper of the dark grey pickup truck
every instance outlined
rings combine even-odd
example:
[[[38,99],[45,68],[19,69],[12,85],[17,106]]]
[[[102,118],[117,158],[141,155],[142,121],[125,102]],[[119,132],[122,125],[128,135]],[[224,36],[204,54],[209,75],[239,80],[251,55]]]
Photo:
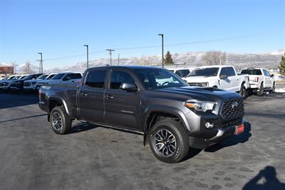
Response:
[[[249,131],[249,121],[242,119],[240,124],[244,125],[244,131]],[[206,149],[209,146],[217,144],[219,141],[226,139],[229,136],[237,135],[237,125],[226,126],[221,128],[212,129],[215,131],[215,136],[210,139],[203,139],[189,136],[190,146],[196,149]]]

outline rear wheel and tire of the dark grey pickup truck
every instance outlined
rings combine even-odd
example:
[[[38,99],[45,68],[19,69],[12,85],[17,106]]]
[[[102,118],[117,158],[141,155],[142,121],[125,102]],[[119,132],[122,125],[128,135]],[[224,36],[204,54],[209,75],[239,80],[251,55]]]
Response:
[[[56,134],[66,134],[71,129],[72,119],[63,106],[53,108],[50,115],[51,128]]]

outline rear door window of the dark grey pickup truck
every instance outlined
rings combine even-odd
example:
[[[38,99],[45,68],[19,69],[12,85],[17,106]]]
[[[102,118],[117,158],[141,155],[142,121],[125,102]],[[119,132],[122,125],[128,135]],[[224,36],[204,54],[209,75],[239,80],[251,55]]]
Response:
[[[87,86],[103,89],[105,84],[106,70],[89,71],[86,76]]]

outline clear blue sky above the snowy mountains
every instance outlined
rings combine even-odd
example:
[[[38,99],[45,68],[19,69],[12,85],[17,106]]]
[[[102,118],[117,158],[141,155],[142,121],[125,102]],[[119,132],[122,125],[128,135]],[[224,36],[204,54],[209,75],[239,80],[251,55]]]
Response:
[[[46,68],[165,51],[285,49],[285,1],[0,1],[0,62]],[[145,47],[147,48],[136,48]],[[124,48],[134,49],[124,49]]]

